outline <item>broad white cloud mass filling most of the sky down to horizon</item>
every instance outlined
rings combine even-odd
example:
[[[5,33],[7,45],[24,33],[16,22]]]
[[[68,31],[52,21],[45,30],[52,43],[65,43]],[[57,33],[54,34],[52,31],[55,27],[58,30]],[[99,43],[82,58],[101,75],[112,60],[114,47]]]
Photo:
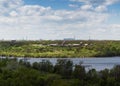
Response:
[[[89,0],[79,1],[85,2],[85,5],[76,10],[53,10],[51,7],[40,5],[25,5],[22,0],[1,0],[0,8],[3,8],[3,11],[0,11],[0,37],[1,39],[26,37],[28,39],[62,39],[77,35],[78,38],[87,39],[89,35],[104,38],[105,32],[115,36],[120,35],[118,33],[120,25],[103,25],[109,14],[100,12],[106,9],[105,5],[114,1],[102,0],[106,4],[101,2],[103,5],[99,4],[95,8]],[[98,3],[98,0],[94,1]]]

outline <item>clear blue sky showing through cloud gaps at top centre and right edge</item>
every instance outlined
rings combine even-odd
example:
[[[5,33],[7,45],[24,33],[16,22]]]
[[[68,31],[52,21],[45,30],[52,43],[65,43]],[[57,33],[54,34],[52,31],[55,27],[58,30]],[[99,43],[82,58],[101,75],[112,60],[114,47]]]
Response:
[[[99,0],[98,0],[99,1]],[[29,5],[42,5],[45,7],[52,7],[53,9],[72,9],[69,4],[84,5],[83,2],[71,2],[70,0],[24,0],[25,4]],[[108,10],[114,12],[120,12],[120,3],[114,3],[108,6]]]

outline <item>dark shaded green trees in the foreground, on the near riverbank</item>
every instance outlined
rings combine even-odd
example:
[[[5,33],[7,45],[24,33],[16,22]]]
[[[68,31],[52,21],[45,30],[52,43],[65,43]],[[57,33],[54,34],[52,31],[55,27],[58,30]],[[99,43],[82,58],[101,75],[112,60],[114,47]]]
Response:
[[[86,71],[68,59],[58,59],[53,65],[48,60],[30,64],[0,58],[0,86],[120,86],[120,66]]]

